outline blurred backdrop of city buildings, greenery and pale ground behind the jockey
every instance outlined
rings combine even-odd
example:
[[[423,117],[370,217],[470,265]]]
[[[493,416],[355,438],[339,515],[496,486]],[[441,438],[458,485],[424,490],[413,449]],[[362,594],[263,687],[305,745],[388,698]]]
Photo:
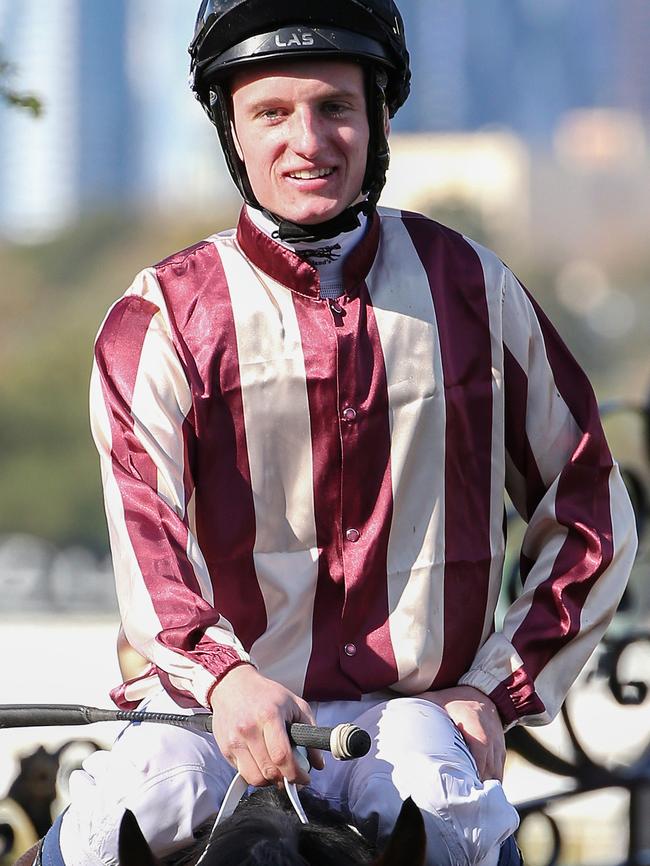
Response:
[[[87,422],[93,339],[138,270],[232,225],[240,206],[187,86],[194,6],[0,0],[0,685],[8,703],[107,706],[119,678]],[[400,8],[413,89],[393,122],[382,204],[421,210],[492,247],[551,316],[600,401],[644,403],[650,2],[400,0]],[[638,421],[617,419],[614,451],[647,482]],[[589,710],[594,729],[605,712],[598,706]],[[628,742],[648,729],[637,716]],[[0,732],[0,795],[21,756],[37,744],[58,749],[74,734]],[[100,742],[112,735],[112,726],[93,729]],[[519,799],[546,785],[516,766],[509,784]],[[621,808],[585,807],[583,826],[590,815],[601,835],[588,853],[576,842],[566,862],[615,862],[622,842],[611,841],[615,830],[603,841],[601,818]]]

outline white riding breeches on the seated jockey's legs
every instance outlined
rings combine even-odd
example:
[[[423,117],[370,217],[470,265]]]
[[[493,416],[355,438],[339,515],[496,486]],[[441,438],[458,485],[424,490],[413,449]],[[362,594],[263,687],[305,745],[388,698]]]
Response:
[[[427,701],[385,692],[362,701],[312,703],[317,724],[354,722],[372,738],[368,755],[312,771],[312,788],[381,843],[402,801],[411,796],[427,829],[429,866],[496,866],[500,843],[518,816],[499,782],[481,782],[447,713]],[[141,709],[178,712],[166,694]],[[110,752],[96,752],[70,779],[71,805],[61,828],[64,860],[74,866],[117,864],[125,808],[136,815],[157,855],[184,847],[214,815],[234,776],[210,734],[163,724],[129,725]]]

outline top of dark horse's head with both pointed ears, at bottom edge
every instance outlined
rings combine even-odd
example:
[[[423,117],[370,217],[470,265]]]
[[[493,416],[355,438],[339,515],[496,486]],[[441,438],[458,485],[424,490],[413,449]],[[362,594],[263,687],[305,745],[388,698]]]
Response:
[[[300,799],[307,824],[283,791],[256,790],[218,826],[204,825],[191,848],[162,860],[153,856],[127,810],[119,833],[120,866],[424,866],[424,821],[410,798],[381,852],[320,798],[302,791]]]

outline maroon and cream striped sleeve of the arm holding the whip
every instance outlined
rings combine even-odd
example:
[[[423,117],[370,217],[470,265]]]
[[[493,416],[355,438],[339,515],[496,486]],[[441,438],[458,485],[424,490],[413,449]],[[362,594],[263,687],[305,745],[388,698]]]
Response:
[[[153,271],[102,325],[90,412],[126,636],[166,688],[209,706],[249,657],[215,607],[195,537],[192,396]]]

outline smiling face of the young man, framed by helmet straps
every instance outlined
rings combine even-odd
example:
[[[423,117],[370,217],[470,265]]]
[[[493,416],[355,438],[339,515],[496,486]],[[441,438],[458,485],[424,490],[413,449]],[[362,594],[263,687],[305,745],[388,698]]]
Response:
[[[370,135],[360,66],[258,66],[235,75],[232,102],[237,150],[262,207],[315,225],[357,200]]]

